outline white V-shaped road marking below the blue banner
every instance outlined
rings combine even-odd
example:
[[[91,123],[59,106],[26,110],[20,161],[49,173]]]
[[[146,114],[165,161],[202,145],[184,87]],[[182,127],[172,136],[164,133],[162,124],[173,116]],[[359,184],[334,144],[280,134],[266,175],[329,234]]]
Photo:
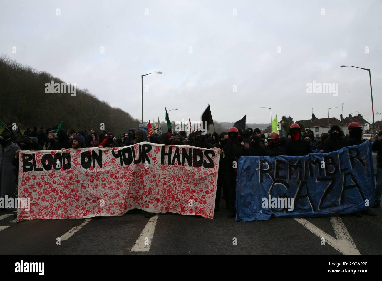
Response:
[[[327,242],[330,246],[332,246],[334,249],[336,249],[343,255],[360,255],[356,245],[354,244],[353,239],[351,238],[348,230],[346,229],[340,217],[330,218],[330,222],[332,223],[336,238],[333,238],[325,231],[322,231],[306,219],[295,218],[295,220],[298,221],[298,223],[305,226],[313,234],[316,234],[319,238],[324,237],[325,242]]]

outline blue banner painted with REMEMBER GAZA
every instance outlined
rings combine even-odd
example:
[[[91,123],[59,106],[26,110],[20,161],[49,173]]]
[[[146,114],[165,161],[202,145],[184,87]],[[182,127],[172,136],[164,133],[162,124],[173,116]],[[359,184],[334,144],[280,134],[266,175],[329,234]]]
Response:
[[[353,213],[374,203],[371,141],[306,156],[238,160],[236,221]]]

